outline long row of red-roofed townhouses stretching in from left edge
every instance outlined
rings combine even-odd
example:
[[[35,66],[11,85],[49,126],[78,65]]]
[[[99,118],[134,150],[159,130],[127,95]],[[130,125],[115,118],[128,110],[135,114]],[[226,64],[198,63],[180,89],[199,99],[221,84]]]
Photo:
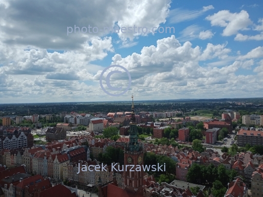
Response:
[[[1,163],[7,167],[16,167],[24,164],[27,173],[61,180],[62,165],[64,163],[87,160],[90,157],[90,151],[87,146],[76,145],[70,148],[66,147],[67,145],[63,144],[62,150],[60,147],[57,147],[57,151],[55,148],[43,149],[42,147],[26,148],[25,150],[3,150],[0,152],[0,159]]]

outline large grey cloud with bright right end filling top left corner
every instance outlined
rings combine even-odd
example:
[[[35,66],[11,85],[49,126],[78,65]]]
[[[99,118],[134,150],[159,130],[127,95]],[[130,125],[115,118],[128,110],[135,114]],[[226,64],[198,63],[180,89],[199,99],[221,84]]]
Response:
[[[75,50],[81,48],[82,43],[88,38],[108,34],[104,31],[93,33],[94,27],[99,30],[104,30],[104,27],[112,28],[114,24],[121,27],[135,25],[149,29],[159,27],[161,23],[166,22],[170,2],[170,0],[113,0],[111,2],[47,0],[43,4],[40,1],[30,0],[23,2],[2,0],[0,39],[7,44],[29,45],[33,48]],[[82,33],[82,27],[88,28],[89,25],[92,27],[91,33]],[[71,34],[67,33],[68,27],[73,28]],[[142,33],[118,34],[121,40],[133,39],[138,35]]]

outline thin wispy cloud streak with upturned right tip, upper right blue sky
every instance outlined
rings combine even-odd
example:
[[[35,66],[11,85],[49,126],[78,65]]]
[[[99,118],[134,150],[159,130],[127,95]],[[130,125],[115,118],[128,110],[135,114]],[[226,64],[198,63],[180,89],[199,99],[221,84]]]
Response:
[[[211,9],[214,9],[212,5],[204,6],[202,10],[184,10],[180,8],[170,10],[170,23],[179,23],[198,18]]]

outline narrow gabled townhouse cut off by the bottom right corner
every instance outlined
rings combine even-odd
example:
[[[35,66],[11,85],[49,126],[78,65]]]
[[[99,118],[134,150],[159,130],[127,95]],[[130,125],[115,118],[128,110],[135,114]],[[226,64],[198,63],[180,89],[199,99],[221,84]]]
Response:
[[[263,163],[251,177],[251,197],[263,197]]]

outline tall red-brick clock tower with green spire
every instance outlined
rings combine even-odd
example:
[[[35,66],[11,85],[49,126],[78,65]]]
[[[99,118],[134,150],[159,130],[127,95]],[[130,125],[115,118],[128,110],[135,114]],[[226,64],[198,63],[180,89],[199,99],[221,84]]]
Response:
[[[126,144],[124,150],[124,166],[134,165],[133,169],[129,166],[125,169],[125,189],[137,194],[143,194],[143,149],[142,144],[138,142],[138,129],[135,121],[133,95],[131,107],[130,122],[130,142]],[[136,165],[141,165],[141,171],[136,171]],[[130,171],[134,170],[134,171]]]

